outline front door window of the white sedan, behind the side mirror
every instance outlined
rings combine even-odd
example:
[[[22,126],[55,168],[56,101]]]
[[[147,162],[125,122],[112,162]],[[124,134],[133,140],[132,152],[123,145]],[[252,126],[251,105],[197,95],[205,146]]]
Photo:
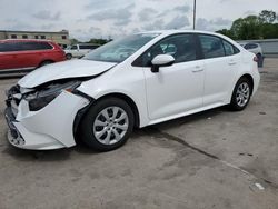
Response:
[[[177,34],[159,41],[142,54],[142,66],[150,67],[151,60],[158,54],[172,56],[175,63],[196,60],[193,34]]]

